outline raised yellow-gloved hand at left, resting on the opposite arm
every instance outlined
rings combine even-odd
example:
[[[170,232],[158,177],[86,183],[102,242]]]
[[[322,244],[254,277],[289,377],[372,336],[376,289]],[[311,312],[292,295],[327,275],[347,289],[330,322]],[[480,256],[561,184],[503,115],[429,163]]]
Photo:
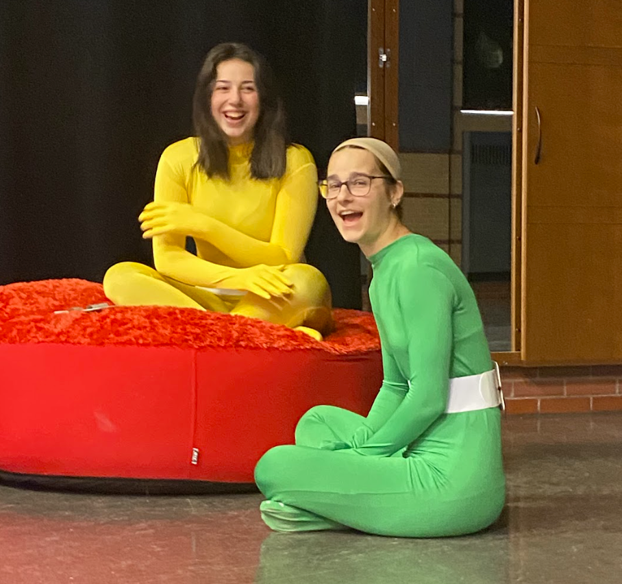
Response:
[[[166,233],[201,238],[210,217],[188,203],[151,202],[138,215],[138,221],[143,239]]]

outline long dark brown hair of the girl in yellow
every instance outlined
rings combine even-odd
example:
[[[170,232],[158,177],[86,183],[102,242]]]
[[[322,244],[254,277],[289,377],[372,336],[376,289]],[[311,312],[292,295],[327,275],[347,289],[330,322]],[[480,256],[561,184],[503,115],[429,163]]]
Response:
[[[223,61],[240,59],[253,66],[259,94],[259,117],[253,132],[251,176],[267,179],[280,178],[285,173],[286,151],[289,140],[285,110],[277,94],[272,70],[258,53],[238,42],[216,45],[206,57],[192,100],[192,119],[199,138],[199,158],[196,165],[208,177],[214,175],[229,179],[229,150],[225,134],[212,117],[212,90],[216,70]]]

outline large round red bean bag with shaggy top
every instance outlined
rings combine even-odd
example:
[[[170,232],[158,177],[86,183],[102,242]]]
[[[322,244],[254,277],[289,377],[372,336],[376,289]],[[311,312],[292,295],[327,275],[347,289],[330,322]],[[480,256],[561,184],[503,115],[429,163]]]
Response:
[[[335,310],[322,343],[191,308],[55,313],[100,302],[85,280],[0,287],[3,478],[252,484],[310,407],[364,414],[382,381],[369,313]]]

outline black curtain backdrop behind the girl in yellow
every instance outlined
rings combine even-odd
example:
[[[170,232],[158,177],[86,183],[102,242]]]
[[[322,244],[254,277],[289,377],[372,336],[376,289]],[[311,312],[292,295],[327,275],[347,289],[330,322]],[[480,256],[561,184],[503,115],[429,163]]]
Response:
[[[122,260],[151,265],[136,218],[162,150],[192,134],[197,73],[224,41],[271,62],[292,137],[322,172],[356,134],[366,1],[1,3],[0,284],[101,281]],[[334,304],[360,308],[358,247],[323,204],[306,254]]]

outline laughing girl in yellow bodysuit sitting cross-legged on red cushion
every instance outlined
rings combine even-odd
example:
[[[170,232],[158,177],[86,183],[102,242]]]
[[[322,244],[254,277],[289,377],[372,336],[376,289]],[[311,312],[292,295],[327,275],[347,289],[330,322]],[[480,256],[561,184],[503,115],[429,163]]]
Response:
[[[214,47],[193,114],[197,137],[164,150],[154,200],[138,217],[156,269],[116,264],[105,273],[105,294],[116,304],[256,317],[321,339],[332,324],[329,287],[300,263],[317,171],[306,148],[286,141],[266,62],[244,45]]]

